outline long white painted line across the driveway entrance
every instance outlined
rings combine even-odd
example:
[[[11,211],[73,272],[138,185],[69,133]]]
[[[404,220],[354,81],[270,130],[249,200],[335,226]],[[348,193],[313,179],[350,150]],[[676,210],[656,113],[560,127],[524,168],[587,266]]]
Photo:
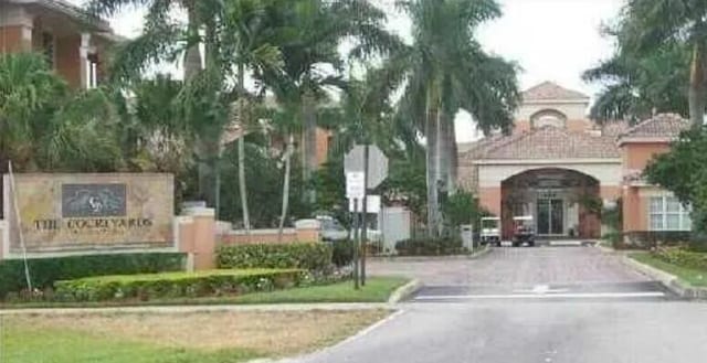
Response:
[[[573,293],[510,293],[510,295],[433,295],[419,296],[413,301],[424,300],[483,300],[483,299],[622,299],[622,298],[662,298],[665,292],[573,292]]]

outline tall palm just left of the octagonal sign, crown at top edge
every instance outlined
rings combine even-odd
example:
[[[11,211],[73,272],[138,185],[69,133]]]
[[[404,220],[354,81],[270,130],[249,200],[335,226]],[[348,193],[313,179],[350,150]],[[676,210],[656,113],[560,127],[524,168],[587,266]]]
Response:
[[[303,128],[303,178],[309,181],[317,169],[316,128],[317,103],[326,98],[326,87],[341,87],[339,74],[345,58],[365,58],[400,46],[398,38],[383,30],[386,15],[368,1],[361,0],[291,0],[282,4],[273,28],[273,41],[285,62],[288,94],[298,99]],[[354,40],[349,54],[342,56],[339,46]],[[330,72],[323,70],[331,67]],[[270,76],[270,78],[273,78]],[[309,200],[314,194],[309,193]]]

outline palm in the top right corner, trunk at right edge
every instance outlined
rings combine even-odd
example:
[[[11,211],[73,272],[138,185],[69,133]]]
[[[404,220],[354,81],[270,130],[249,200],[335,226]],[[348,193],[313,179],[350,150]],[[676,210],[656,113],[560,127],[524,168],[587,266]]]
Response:
[[[639,56],[664,43],[680,42],[689,46],[689,118],[693,126],[703,125],[707,102],[707,2],[631,0],[621,17],[620,38],[623,38],[621,45]]]

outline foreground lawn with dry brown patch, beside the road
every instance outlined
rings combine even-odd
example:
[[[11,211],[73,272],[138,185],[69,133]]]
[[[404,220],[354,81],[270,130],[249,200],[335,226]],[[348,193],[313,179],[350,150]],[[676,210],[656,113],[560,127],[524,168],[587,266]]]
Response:
[[[234,363],[326,346],[384,310],[0,317],[0,362]]]

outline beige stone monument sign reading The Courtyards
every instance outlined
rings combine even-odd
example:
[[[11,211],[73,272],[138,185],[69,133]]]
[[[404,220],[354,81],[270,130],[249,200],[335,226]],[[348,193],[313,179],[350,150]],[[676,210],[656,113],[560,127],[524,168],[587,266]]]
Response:
[[[175,246],[171,174],[15,174],[3,182],[9,256],[22,253],[18,224],[28,254]]]

